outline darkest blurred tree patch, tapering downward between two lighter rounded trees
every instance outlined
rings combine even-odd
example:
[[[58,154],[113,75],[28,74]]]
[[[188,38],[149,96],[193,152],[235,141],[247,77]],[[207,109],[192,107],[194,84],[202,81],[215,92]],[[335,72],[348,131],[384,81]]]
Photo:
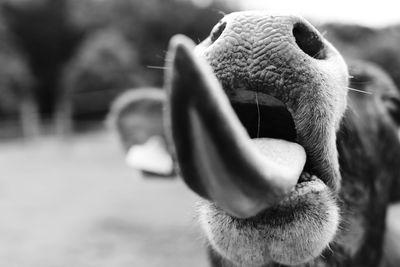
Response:
[[[36,78],[36,98],[44,115],[54,112],[60,71],[82,37],[69,24],[67,2],[5,0],[2,3],[2,13]]]

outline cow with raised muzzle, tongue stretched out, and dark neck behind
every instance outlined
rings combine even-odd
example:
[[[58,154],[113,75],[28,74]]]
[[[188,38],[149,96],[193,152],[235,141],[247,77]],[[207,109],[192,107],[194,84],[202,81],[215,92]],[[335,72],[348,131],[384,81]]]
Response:
[[[379,67],[349,75],[307,21],[267,12],[225,16],[196,48],[175,37],[166,62],[164,124],[212,266],[380,264],[400,98]]]

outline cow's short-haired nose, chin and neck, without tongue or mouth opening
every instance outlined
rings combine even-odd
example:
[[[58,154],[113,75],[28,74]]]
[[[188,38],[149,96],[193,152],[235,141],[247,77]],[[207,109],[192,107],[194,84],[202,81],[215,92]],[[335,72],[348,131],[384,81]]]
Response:
[[[202,205],[199,216],[213,251],[211,263],[377,266],[390,189],[400,177],[395,163],[400,158],[396,125],[382,97],[388,88],[381,82],[389,78],[365,63],[352,67],[351,75],[356,78],[350,86],[373,92],[351,92],[346,104],[347,83],[343,82],[346,75],[341,73],[345,67],[340,56],[333,55],[332,65],[307,57],[298,59],[302,56],[283,45],[291,39],[279,42],[291,34],[284,33],[290,25],[306,23],[293,17],[268,16],[245,12],[225,17],[219,38],[200,44],[197,53],[207,59],[231,98],[235,98],[235,90],[250,88],[267,91],[285,102],[294,117],[298,141],[322,167],[313,171],[332,190],[307,194],[244,220],[227,215],[212,203]],[[283,32],[276,44],[269,36],[271,29],[277,36]],[[326,45],[330,55],[334,54]],[[251,61],[245,60],[248,58]],[[271,65],[274,68],[267,68]],[[357,83],[362,75],[368,77],[367,83]],[[340,174],[336,174],[339,163]]]

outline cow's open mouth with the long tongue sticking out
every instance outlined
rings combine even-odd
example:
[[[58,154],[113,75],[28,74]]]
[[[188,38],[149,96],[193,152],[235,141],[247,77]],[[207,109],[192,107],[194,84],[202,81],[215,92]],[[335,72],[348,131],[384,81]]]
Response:
[[[211,67],[181,38],[171,42],[167,59],[166,121],[186,184],[237,218],[325,188],[308,170],[285,105],[248,90],[241,90],[244,101],[228,99]]]

